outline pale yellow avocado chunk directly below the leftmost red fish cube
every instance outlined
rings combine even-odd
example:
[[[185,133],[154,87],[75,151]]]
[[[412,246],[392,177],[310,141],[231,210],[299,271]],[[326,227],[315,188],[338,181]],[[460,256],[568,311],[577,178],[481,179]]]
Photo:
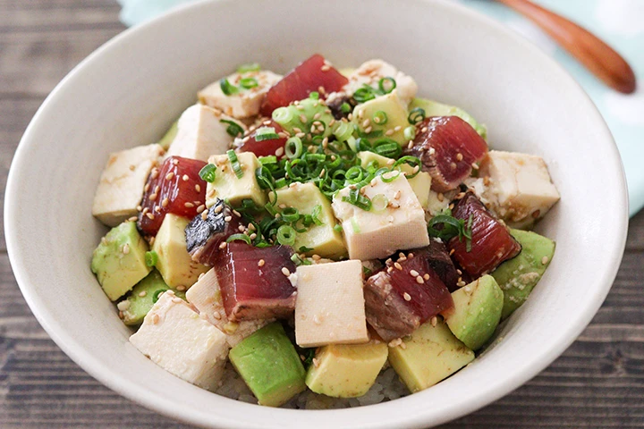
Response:
[[[190,288],[197,282],[200,273],[206,273],[208,266],[192,260],[186,249],[185,228],[188,219],[176,214],[165,214],[157,232],[152,250],[157,252],[157,270],[164,282],[171,288]]]

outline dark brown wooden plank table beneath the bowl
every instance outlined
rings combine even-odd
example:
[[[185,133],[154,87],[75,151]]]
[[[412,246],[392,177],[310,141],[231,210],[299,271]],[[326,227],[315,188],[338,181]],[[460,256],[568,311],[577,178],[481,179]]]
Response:
[[[114,0],[0,0],[0,205],[31,117],[73,66],[123,30],[118,11]],[[108,390],[58,349],[22,299],[0,234],[0,427],[186,427]],[[631,222],[613,289],[572,347],[530,383],[444,427],[644,427],[644,213]]]

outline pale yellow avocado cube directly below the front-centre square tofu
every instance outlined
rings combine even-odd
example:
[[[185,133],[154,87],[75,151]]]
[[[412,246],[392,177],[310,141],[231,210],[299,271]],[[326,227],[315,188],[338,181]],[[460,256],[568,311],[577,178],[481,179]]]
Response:
[[[331,344],[318,349],[309,366],[306,383],[311,391],[333,398],[357,398],[376,383],[385,365],[386,343]]]

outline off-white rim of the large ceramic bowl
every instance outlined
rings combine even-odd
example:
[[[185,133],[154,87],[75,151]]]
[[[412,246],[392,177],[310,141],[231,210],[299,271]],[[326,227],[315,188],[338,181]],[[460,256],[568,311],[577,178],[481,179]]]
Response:
[[[585,329],[589,324],[592,317],[597,313],[597,309],[601,306],[606,295],[610,290],[614,278],[616,276],[617,270],[620,265],[620,261],[623,256],[623,249],[626,244],[626,236],[628,232],[628,194],[626,190],[625,175],[623,172],[623,164],[621,157],[619,155],[618,149],[614,143],[614,139],[611,135],[610,130],[606,125],[606,122],[602,118],[601,114],[597,111],[597,107],[590,100],[586,92],[580,87],[580,84],[576,82],[572,76],[563,69],[555,60],[545,53],[543,53],[537,46],[534,46],[529,40],[523,38],[520,34],[514,32],[512,29],[505,27],[498,21],[485,16],[482,13],[472,10],[471,8],[466,7],[465,5],[458,4],[456,2],[450,2],[448,0],[415,0],[419,3],[428,4],[428,7],[442,7],[454,14],[460,14],[466,16],[469,20],[478,21],[480,24],[487,26],[490,31],[495,31],[496,34],[499,34],[503,38],[513,39],[513,43],[520,44],[522,48],[529,51],[530,55],[538,56],[540,62],[544,65],[547,65],[548,72],[555,73],[556,77],[565,82],[565,85],[574,95],[580,99],[580,102],[584,102],[589,107],[589,112],[595,115],[594,122],[597,123],[597,132],[601,133],[602,139],[606,140],[606,144],[610,147],[610,153],[612,158],[609,161],[616,162],[621,169],[621,177],[619,181],[622,184],[620,192],[615,195],[615,198],[620,200],[622,204],[620,207],[624,207],[623,215],[616,215],[614,218],[614,230],[621,231],[621,235],[617,235],[614,240],[614,246],[612,252],[608,255],[610,264],[606,264],[606,269],[601,273],[601,277],[597,280],[597,284],[600,284],[601,287],[597,287],[597,290],[594,290],[593,304],[585,308],[582,312],[576,315],[576,320],[574,323],[568,324],[566,329],[563,330],[558,335],[557,341],[551,344],[551,347],[536,357],[532,357],[530,360],[530,365],[524,365],[522,371],[517,371],[516,373],[509,375],[504,378],[502,381],[494,384],[490,384],[485,391],[478,391],[469,395],[469,401],[464,403],[455,403],[451,406],[445,407],[442,409],[442,412],[439,416],[431,421],[428,421],[428,416],[425,416],[425,412],[421,409],[415,409],[414,412],[399,414],[396,416],[395,422],[396,425],[400,427],[420,427],[421,425],[439,425],[445,423],[453,418],[459,416],[465,416],[471,412],[483,408],[489,403],[502,398],[504,395],[520,387],[521,384],[528,382],[532,377],[541,372],[544,368],[550,365],[556,357],[559,357],[565,349],[567,349],[573,341],[580,335],[580,333]],[[27,281],[26,272],[29,271],[29,258],[21,252],[21,247],[19,245],[20,237],[18,237],[12,228],[13,224],[20,222],[20,212],[19,204],[20,195],[17,193],[18,187],[18,178],[19,169],[24,168],[27,164],[27,159],[25,153],[27,152],[26,147],[36,144],[31,138],[32,134],[35,134],[35,130],[39,126],[40,117],[49,108],[49,105],[53,103],[53,100],[58,96],[59,93],[65,91],[68,87],[72,86],[73,80],[77,74],[79,74],[83,69],[88,67],[91,63],[97,61],[104,53],[121,46],[123,43],[127,43],[127,40],[132,37],[136,37],[139,33],[144,33],[146,31],[155,30],[157,28],[163,28],[166,22],[173,21],[176,17],[181,16],[182,14],[193,13],[202,7],[214,7],[212,4],[224,4],[232,3],[233,0],[198,0],[190,4],[182,4],[178,7],[173,8],[168,13],[164,13],[157,18],[148,21],[146,23],[135,26],[131,29],[125,29],[123,32],[116,35],[114,38],[108,40],[104,45],[100,46],[87,58],[81,61],[76,67],[70,71],[63,80],[54,88],[54,90],[47,96],[42,105],[38,108],[38,112],[34,115],[29,126],[25,130],[21,142],[16,149],[15,155],[13,157],[13,162],[9,171],[7,185],[5,188],[5,199],[4,199],[4,230],[5,230],[5,240],[7,244],[7,253],[10,259],[10,263],[13,267],[13,273],[16,278],[16,282],[21,289],[21,293],[24,296],[24,299],[27,301],[31,311],[38,319],[38,323],[42,325],[47,334],[55,341],[55,343],[64,350],[64,353],[71,357],[72,360],[78,364],[83,370],[87,371],[91,376],[96,378],[99,382],[106,385],[109,389],[118,392],[123,395],[123,397],[132,400],[136,403],[140,403],[144,407],[153,410],[159,414],[169,416],[176,420],[190,423],[191,425],[199,425],[202,427],[263,427],[259,423],[251,425],[248,422],[234,421],[230,418],[225,418],[220,416],[220,419],[216,422],[212,421],[212,416],[208,412],[190,414],[182,412],[182,410],[172,407],[173,402],[167,398],[160,397],[155,395],[140,386],[137,383],[131,382],[127,378],[123,377],[121,374],[114,374],[108,368],[106,368],[101,360],[93,356],[89,351],[83,349],[80,345],[80,342],[77,341],[69,332],[66,332],[64,325],[60,324],[55,320],[55,316],[47,310],[47,307],[44,303],[38,298],[37,294],[31,289],[30,283]],[[374,406],[369,406],[368,408],[360,407],[357,409],[394,409],[392,404],[396,406],[402,401],[410,403],[410,399],[414,395],[407,397],[401,400],[395,400],[391,402],[386,402],[382,404],[377,404]],[[249,404],[244,404],[246,407],[250,407]],[[254,417],[256,422],[260,421],[271,421],[275,418],[284,416],[285,418],[292,418],[298,416],[298,413],[302,413],[300,410],[290,410],[282,408],[261,408],[257,406],[252,406],[253,414],[259,415]],[[250,408],[247,408],[250,411]],[[305,411],[307,415],[313,416],[314,419],[323,418],[323,416],[330,416],[331,414],[343,415],[344,417],[351,416],[356,414],[355,411],[352,411],[352,408],[346,409],[337,409],[337,410],[323,410],[323,411]],[[279,418],[281,419],[281,418]],[[321,420],[322,421],[322,420]],[[386,428],[391,427],[391,421],[381,421],[371,425],[372,428]],[[347,427],[360,427],[360,422],[348,422]]]

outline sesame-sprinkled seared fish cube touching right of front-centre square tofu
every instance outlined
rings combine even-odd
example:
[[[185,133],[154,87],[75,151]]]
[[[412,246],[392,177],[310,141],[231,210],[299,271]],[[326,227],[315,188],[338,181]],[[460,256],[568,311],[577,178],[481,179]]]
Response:
[[[413,252],[389,258],[367,279],[367,321],[385,341],[414,332],[420,324],[453,307],[452,296],[425,257]]]

